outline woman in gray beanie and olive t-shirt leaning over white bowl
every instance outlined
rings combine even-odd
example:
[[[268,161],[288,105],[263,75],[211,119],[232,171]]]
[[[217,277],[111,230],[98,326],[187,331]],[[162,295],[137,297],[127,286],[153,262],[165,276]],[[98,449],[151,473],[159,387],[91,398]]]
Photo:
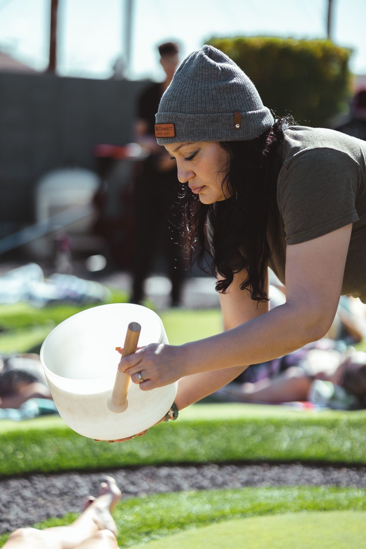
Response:
[[[366,143],[274,120],[244,72],[212,46],[174,74],[155,134],[184,183],[200,265],[209,239],[224,332],[150,344],[119,367],[142,390],[179,379],[180,409],[250,364],[322,338],[340,295],[366,301]],[[271,311],[268,266],[286,288]]]

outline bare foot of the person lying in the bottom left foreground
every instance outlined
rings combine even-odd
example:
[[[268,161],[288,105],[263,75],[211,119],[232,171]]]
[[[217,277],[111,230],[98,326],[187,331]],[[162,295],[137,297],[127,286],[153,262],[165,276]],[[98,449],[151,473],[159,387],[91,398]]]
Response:
[[[111,512],[120,501],[121,490],[112,477],[105,477],[105,482],[100,484],[100,494],[94,501],[89,501],[87,507],[94,511],[94,522],[99,530],[110,530],[117,536],[117,526],[112,519]]]

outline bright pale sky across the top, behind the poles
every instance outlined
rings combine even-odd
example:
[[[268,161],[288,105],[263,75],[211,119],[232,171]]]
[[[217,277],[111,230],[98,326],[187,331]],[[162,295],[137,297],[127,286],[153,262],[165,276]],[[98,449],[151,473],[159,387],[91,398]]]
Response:
[[[351,70],[366,74],[366,1],[333,0],[333,40],[353,48]],[[125,0],[59,0],[58,71],[108,78],[123,54]],[[181,58],[211,36],[324,38],[328,0],[134,0],[132,79],[160,80],[157,44],[181,44]],[[47,66],[50,0],[0,0],[0,49]]]

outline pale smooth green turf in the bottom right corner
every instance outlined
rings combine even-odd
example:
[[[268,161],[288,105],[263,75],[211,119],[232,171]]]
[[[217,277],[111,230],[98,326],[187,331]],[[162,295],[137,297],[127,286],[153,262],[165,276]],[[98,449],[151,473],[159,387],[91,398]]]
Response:
[[[227,520],[133,549],[354,549],[366,546],[366,513],[332,511]]]

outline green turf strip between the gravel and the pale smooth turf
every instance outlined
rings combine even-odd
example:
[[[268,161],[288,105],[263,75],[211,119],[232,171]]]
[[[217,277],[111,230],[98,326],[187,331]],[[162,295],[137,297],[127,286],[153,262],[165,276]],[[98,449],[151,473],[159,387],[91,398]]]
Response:
[[[123,486],[121,488],[123,489]],[[119,530],[120,547],[131,547],[151,539],[176,534],[180,530],[206,526],[228,519],[271,514],[277,516],[274,519],[278,519],[279,513],[337,510],[366,511],[366,490],[296,486],[154,494],[123,500],[116,507],[113,516]],[[326,513],[319,513],[319,515],[320,519],[324,517],[326,520]],[[292,516],[296,517],[296,515],[286,514],[284,519],[291,520]],[[70,524],[76,517],[76,514],[68,514],[66,517],[49,519],[35,526],[36,528],[63,526]],[[7,535],[0,536],[0,547],[7,537]],[[171,540],[173,537],[164,539],[161,547],[171,547]],[[212,546],[221,549],[220,545]],[[206,547],[210,545],[202,545],[200,549]],[[235,548],[234,545],[232,547]],[[265,547],[262,546],[261,549]],[[294,547],[297,548],[297,545]],[[320,544],[319,547],[323,545]],[[337,545],[333,547],[338,549]],[[354,545],[353,549],[356,547],[361,549],[363,545]]]

